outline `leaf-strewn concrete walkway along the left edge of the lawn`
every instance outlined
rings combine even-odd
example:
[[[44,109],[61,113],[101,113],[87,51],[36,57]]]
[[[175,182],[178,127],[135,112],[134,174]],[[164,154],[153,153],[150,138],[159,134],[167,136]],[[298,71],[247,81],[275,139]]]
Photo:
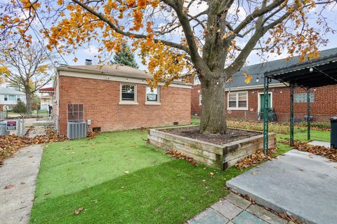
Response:
[[[21,148],[0,167],[0,224],[29,222],[42,149],[42,145]]]

